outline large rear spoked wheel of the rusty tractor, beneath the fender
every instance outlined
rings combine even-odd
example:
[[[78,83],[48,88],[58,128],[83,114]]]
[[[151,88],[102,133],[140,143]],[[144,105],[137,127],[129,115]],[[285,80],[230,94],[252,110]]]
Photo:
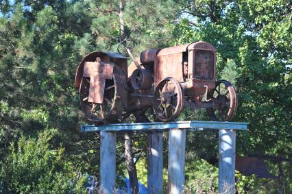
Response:
[[[116,75],[117,66],[114,66],[114,75],[112,80],[106,80],[106,84],[104,87],[104,101],[102,104],[95,104],[92,102],[88,102],[89,95],[89,84],[90,78],[83,77],[82,82],[80,84],[80,105],[82,111],[84,112],[85,117],[89,121],[93,121],[96,124],[103,123],[115,123],[122,120],[121,111],[117,107],[120,104],[120,97],[117,96],[117,91],[119,91],[119,77]]]

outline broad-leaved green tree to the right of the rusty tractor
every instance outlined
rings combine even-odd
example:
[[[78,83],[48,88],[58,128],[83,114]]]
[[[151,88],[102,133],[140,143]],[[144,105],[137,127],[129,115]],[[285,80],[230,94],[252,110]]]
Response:
[[[249,131],[239,134],[237,153],[291,158],[291,1],[186,2],[174,26],[184,33],[173,43],[205,40],[217,48],[217,75],[231,76],[239,93],[234,121],[249,123]],[[276,164],[270,169],[278,173]]]

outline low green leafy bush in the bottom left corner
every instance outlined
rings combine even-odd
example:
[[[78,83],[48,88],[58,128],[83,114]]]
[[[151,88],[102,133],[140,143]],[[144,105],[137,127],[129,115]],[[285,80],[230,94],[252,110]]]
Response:
[[[77,178],[64,148],[52,149],[56,130],[45,130],[38,138],[19,138],[10,146],[3,162],[1,180],[9,193],[85,193],[85,178]]]

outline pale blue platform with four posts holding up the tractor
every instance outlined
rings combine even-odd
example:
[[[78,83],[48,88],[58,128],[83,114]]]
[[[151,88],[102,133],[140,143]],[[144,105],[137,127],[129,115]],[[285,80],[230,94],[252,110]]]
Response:
[[[116,178],[117,132],[147,132],[148,193],[162,193],[163,138],[169,133],[168,193],[184,191],[186,131],[217,131],[219,134],[219,193],[235,193],[236,130],[247,130],[247,123],[215,121],[178,121],[82,125],[81,132],[100,132],[99,193],[114,193]],[[195,149],[195,147],[194,147]]]

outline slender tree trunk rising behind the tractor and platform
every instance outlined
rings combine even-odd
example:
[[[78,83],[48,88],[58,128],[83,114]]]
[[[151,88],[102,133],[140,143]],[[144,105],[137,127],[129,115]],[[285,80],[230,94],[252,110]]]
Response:
[[[125,38],[127,37],[127,34],[125,32],[125,22],[123,21],[124,8],[125,0],[121,0],[119,7],[121,41],[125,40]],[[123,44],[125,45],[126,43],[124,42]],[[125,162],[127,166],[127,173],[129,174],[131,193],[138,194],[139,191],[138,178],[132,150],[132,134],[125,133],[124,136],[125,136]]]

